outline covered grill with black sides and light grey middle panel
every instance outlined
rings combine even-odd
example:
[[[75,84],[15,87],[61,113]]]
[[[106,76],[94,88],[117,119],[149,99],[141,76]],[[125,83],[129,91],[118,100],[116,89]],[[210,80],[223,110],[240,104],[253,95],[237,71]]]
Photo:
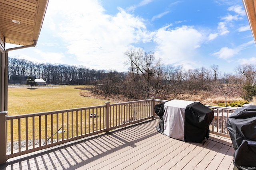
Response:
[[[174,101],[174,100],[171,100]],[[170,101],[168,101],[170,102]],[[184,102],[182,100],[175,100],[175,102]],[[182,132],[184,135],[181,138],[176,138],[179,140],[187,141],[187,142],[196,142],[196,143],[202,143],[204,139],[209,138],[209,125],[212,122],[212,119],[214,118],[214,112],[209,109],[208,107],[204,106],[200,102],[190,102],[186,101],[190,104],[186,106],[186,109],[184,111],[184,122],[183,120],[174,120],[173,122],[166,122],[164,120],[164,114],[171,114],[171,116],[175,116],[175,114],[181,114],[181,113],[172,113],[165,110],[166,107],[170,107],[166,104],[166,102],[163,102],[161,104],[156,104],[154,107],[155,113],[160,118],[158,131],[161,133],[164,133],[166,129],[165,124],[171,124],[168,125],[168,127],[172,128],[177,125],[177,123],[184,123],[184,126],[182,127]],[[174,106],[175,107],[175,106]],[[178,106],[177,106],[178,107]],[[166,108],[168,109],[168,108]],[[182,108],[178,109],[181,110]],[[182,117],[183,118],[183,117]],[[181,119],[182,119],[181,118]],[[179,125],[179,127],[181,127]],[[175,132],[172,132],[175,133]],[[168,133],[164,133],[165,135],[168,135],[169,137],[172,137],[172,135],[169,135]],[[182,135],[182,134],[181,134]],[[177,135],[174,135],[177,136]],[[175,137],[174,137],[175,138]]]

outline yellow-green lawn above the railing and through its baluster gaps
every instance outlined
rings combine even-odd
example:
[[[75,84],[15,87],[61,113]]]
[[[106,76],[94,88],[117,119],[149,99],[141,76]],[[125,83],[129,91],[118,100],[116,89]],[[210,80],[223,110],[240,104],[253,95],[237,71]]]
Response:
[[[99,106],[104,105],[104,102],[107,101],[80,96],[80,91],[82,90],[76,89],[75,87],[78,86],[34,86],[32,89],[28,86],[12,86],[8,88],[8,115],[22,115],[27,113]],[[69,117],[71,119],[71,115]],[[49,124],[50,116],[48,116],[47,119]],[[61,118],[59,118],[59,121],[60,119]],[[53,123],[56,125],[56,115],[54,115]],[[38,117],[36,117],[35,127],[38,126]],[[44,136],[43,126],[44,117],[42,117],[42,136]],[[28,127],[30,127],[28,128],[28,139],[32,139],[32,119],[28,119]],[[21,140],[25,140],[25,119],[21,120],[21,129],[23,129],[21,131]],[[37,128],[36,131],[38,131]],[[8,132],[10,132],[10,123],[8,123]],[[50,134],[50,128],[48,128],[47,133]],[[13,122],[13,138],[14,141],[18,140],[18,120]],[[35,139],[38,138],[38,133],[36,133]],[[66,134],[64,138],[66,138]],[[10,141],[10,135],[8,135],[8,141]]]

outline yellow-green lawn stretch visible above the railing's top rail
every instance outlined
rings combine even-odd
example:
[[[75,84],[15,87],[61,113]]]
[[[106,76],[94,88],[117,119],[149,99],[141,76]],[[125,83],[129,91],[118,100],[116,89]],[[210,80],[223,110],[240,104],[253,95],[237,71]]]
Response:
[[[108,100],[80,96],[82,90],[72,85],[59,86],[10,86],[8,88],[8,115],[39,113],[104,105]]]

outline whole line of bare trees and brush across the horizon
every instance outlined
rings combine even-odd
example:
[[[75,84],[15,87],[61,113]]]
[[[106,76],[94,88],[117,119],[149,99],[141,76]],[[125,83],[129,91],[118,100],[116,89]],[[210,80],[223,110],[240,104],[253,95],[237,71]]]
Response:
[[[10,75],[30,75],[48,84],[90,84],[94,94],[123,96],[129,99],[167,98],[170,94],[197,94],[206,91],[223,96],[241,96],[252,100],[256,96],[256,66],[237,66],[235,74],[221,74],[216,64],[210,68],[186,70],[182,66],[164,65],[154,52],[141,48],[125,53],[130,66],[127,72],[90,70],[84,66],[38,64],[24,59],[9,58]]]

